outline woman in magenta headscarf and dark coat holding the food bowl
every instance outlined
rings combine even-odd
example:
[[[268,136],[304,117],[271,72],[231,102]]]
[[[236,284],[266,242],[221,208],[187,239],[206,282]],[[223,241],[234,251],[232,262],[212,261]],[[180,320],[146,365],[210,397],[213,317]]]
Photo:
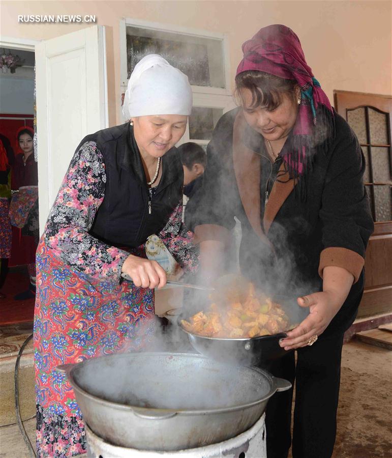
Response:
[[[199,225],[206,277],[223,271],[223,253],[241,222],[242,274],[268,294],[295,295],[307,318],[280,345],[294,352],[273,375],[294,382],[294,458],[330,457],[336,436],[343,334],[364,289],[373,220],[363,183],[364,156],[307,65],[298,37],[263,27],[243,45],[239,107],[218,122],[207,149]],[[292,390],[267,407],[268,458],[287,457]]]

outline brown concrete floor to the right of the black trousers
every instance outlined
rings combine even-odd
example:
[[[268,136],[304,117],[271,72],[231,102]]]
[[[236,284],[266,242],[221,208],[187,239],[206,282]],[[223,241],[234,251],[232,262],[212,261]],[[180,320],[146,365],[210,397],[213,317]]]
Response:
[[[334,458],[392,457],[392,351],[343,347]]]

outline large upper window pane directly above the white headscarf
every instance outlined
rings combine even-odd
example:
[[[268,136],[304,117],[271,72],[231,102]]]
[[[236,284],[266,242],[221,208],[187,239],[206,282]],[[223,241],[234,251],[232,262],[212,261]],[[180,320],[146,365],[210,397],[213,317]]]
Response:
[[[225,88],[222,40],[127,26],[128,78],[147,54],[160,54],[193,85]]]

